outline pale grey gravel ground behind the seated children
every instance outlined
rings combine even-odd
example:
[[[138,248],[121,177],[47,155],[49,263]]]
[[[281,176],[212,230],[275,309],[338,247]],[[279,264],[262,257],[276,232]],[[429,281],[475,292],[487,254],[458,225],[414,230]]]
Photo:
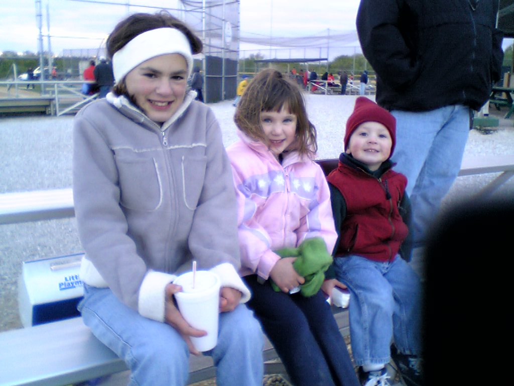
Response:
[[[355,96],[307,95],[310,120],[318,130],[318,157],[334,158],[341,152],[344,125]],[[221,122],[225,145],[236,141],[232,101],[210,104]],[[500,117],[491,109],[491,114]],[[0,118],[0,193],[71,186],[72,116],[21,116]],[[512,118],[484,135],[470,132],[466,154],[514,154]],[[445,205],[478,191],[495,174],[460,177]],[[514,192],[514,179],[500,192]],[[17,278],[22,261],[81,252],[75,219],[0,226],[0,331],[19,328]]]

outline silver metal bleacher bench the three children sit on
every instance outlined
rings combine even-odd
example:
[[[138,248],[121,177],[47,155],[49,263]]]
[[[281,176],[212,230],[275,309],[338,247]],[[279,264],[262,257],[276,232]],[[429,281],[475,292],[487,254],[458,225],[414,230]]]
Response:
[[[347,310],[335,307],[334,310],[341,333],[348,335]],[[2,386],[69,385],[127,372],[125,363],[91,334],[80,317],[1,332],[0,347]],[[285,374],[277,358],[266,339],[263,351],[266,374]],[[189,383],[214,377],[211,357],[190,357]]]

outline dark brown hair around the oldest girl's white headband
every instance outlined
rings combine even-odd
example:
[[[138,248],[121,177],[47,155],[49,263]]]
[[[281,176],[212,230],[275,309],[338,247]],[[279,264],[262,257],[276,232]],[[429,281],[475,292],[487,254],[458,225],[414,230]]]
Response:
[[[203,49],[201,40],[190,27],[172,16],[168,11],[161,10],[156,13],[134,13],[119,22],[107,38],[107,55],[112,58],[117,51],[143,32],[165,27],[178,29],[185,34],[191,45],[193,55],[199,54]],[[113,90],[118,95],[126,95],[126,87],[123,82],[116,84]]]

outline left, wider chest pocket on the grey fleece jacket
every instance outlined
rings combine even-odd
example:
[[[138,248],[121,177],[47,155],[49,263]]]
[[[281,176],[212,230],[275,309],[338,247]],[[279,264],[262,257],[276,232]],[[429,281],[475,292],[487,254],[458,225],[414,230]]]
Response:
[[[162,203],[162,183],[155,159],[117,159],[120,204],[127,209],[153,212]]]

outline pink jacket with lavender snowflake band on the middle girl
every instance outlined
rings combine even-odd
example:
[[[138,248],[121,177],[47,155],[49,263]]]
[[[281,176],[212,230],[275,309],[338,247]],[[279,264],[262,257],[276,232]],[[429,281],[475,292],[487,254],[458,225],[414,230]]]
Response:
[[[296,151],[282,165],[262,142],[239,131],[227,148],[237,197],[241,276],[267,279],[281,248],[322,237],[332,251],[337,233],[321,167]]]

